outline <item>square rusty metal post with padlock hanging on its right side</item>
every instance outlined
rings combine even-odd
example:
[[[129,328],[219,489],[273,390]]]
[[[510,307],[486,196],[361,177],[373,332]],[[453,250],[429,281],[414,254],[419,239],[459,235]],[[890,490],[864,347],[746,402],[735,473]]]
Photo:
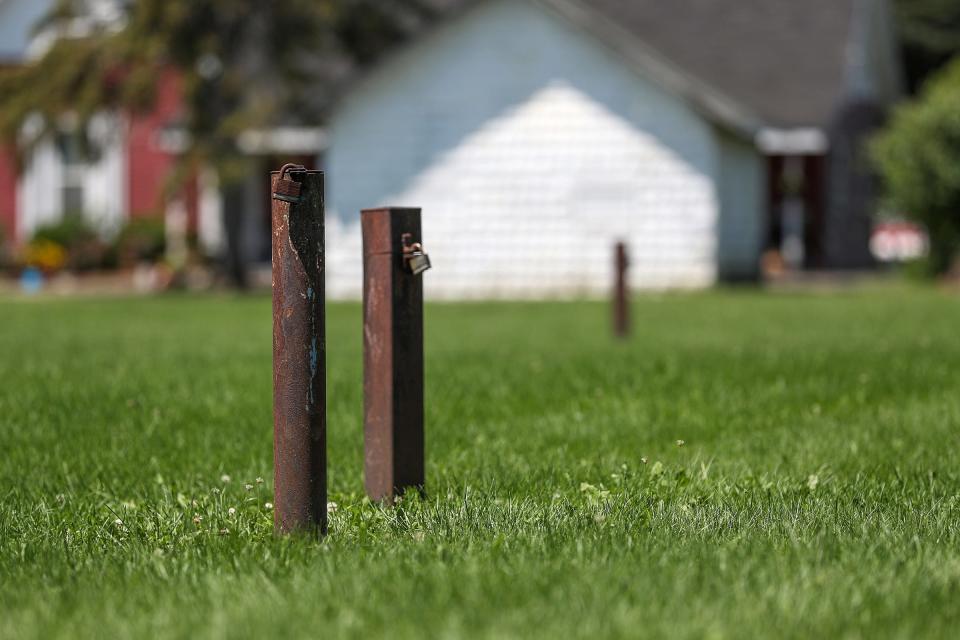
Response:
[[[364,483],[392,502],[424,488],[423,281],[420,209],[365,209],[363,230]]]

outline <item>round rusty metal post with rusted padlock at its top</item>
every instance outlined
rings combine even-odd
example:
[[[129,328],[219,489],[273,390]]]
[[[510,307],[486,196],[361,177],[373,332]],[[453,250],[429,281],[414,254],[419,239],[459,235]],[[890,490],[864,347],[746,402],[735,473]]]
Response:
[[[270,175],[277,533],[327,530],[323,172]]]

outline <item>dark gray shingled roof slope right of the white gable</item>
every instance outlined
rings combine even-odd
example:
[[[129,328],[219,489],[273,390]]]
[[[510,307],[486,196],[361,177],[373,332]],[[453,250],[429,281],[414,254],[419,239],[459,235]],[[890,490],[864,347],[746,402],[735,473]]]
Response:
[[[856,0],[579,0],[771,125],[824,126]]]

